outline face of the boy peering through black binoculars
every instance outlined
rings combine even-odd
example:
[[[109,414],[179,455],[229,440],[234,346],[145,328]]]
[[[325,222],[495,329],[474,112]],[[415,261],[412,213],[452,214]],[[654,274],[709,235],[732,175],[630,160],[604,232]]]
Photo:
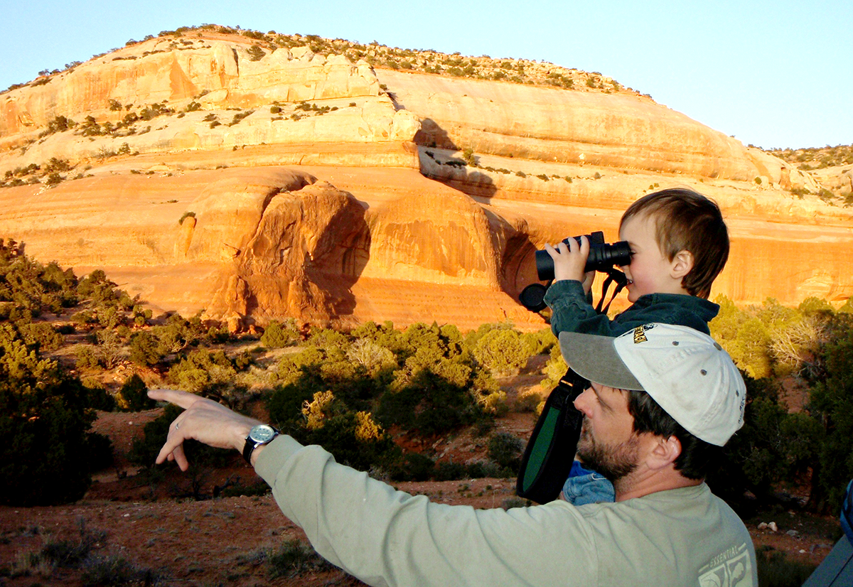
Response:
[[[628,241],[631,264],[621,269],[628,277],[628,301],[634,303],[646,294],[686,294],[682,278],[673,276],[675,261],[667,259],[655,237],[654,218],[648,214],[632,216],[619,228],[619,240]]]

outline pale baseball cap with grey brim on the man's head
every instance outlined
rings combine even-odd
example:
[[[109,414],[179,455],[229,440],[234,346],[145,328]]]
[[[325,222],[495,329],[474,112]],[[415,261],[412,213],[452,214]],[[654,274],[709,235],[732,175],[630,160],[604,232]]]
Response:
[[[647,392],[685,430],[711,445],[725,445],[743,426],[743,377],[728,352],[698,330],[651,323],[616,338],[561,332],[560,351],[577,375]]]

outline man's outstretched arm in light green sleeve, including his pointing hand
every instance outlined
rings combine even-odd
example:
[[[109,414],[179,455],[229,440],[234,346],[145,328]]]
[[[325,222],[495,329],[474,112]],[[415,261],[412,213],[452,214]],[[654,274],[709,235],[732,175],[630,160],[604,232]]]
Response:
[[[184,470],[184,440],[241,450],[258,423],[192,393],[148,395],[186,409],[172,422],[157,457]],[[595,541],[583,515],[565,502],[509,511],[431,503],[287,434],[258,447],[256,460],[281,511],[305,530],[317,552],[367,584],[500,587],[561,584],[566,576],[578,584],[595,582]],[[546,551],[551,555],[543,559]]]

